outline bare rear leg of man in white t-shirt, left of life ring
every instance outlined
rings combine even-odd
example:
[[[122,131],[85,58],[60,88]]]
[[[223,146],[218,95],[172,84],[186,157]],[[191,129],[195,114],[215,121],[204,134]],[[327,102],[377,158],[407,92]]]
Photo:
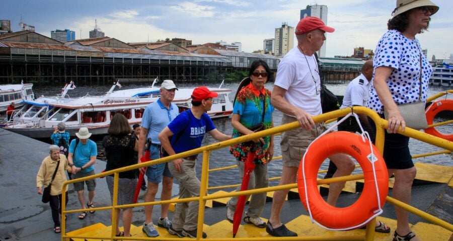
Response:
[[[285,185],[295,183],[297,176],[297,167],[283,167],[281,172],[281,179],[278,185]],[[289,190],[278,190],[274,192],[272,197],[272,209],[269,217],[269,222],[273,228],[281,226],[280,211],[285,202],[286,195]]]

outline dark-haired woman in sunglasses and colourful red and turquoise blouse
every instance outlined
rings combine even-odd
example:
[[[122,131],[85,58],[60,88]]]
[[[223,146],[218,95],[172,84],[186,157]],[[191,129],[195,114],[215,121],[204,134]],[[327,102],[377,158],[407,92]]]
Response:
[[[274,107],[270,103],[271,91],[264,87],[269,76],[270,69],[265,61],[259,59],[250,66],[249,77],[239,85],[234,102],[231,120],[234,128],[233,138],[273,127],[272,112]],[[254,127],[261,125],[261,130],[253,130],[256,129]],[[248,156],[255,155],[253,161],[255,168],[250,174],[249,189],[268,187],[267,163],[272,160],[274,154],[273,136],[233,145],[230,147],[230,153],[236,157],[241,179],[244,176],[245,162]],[[241,187],[238,187],[237,191],[240,190]],[[246,200],[248,200],[248,197]],[[230,222],[233,222],[237,203],[238,197],[232,197],[226,204],[226,219]],[[257,227],[266,227],[266,223],[260,218],[264,204],[266,204],[266,193],[253,194],[244,221],[253,223]]]

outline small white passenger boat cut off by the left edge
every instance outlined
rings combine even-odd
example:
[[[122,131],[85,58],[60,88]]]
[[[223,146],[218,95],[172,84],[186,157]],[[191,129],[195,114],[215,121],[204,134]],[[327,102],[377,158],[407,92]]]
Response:
[[[33,84],[3,84],[0,85],[0,112],[6,111],[8,105],[15,103],[16,108],[22,106],[25,100],[33,100]]]

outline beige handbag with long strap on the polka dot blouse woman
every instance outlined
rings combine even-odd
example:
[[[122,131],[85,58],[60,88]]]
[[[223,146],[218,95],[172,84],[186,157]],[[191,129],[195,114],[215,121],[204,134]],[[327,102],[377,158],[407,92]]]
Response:
[[[400,110],[401,116],[406,122],[406,126],[415,130],[422,130],[428,128],[428,122],[426,121],[425,114],[425,102],[421,101],[421,83],[422,83],[422,65],[421,65],[421,53],[420,53],[420,89],[419,89],[419,101],[414,103],[400,104],[398,109]],[[389,120],[389,112],[384,108],[384,117]]]

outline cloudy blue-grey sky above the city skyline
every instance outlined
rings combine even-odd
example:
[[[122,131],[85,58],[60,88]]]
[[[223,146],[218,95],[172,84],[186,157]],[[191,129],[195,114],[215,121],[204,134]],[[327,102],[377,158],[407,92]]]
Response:
[[[453,54],[452,0],[432,0],[440,7],[429,31],[418,35],[428,57]],[[55,29],[75,31],[76,39],[88,38],[98,26],[108,37],[123,42],[183,38],[193,44],[241,42],[242,50],[263,48],[282,22],[295,27],[300,9],[312,4],[328,7],[327,24],[336,31],[327,36],[327,57],[352,55],[354,47],[375,48],[387,29],[396,0],[2,0],[0,18],[11,20],[13,31],[23,22],[49,36]],[[82,36],[81,36],[82,32]]]

